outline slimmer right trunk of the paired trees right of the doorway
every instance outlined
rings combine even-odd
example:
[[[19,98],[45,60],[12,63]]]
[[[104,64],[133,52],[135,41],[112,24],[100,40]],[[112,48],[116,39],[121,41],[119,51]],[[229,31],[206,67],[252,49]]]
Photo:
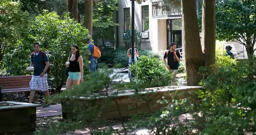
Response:
[[[215,0],[204,0],[202,7],[202,51],[206,64],[215,63]]]

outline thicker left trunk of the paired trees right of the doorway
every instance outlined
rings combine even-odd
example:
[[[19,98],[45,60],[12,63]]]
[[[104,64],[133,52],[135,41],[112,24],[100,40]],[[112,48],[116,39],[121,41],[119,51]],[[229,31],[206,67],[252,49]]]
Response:
[[[195,0],[181,0],[182,30],[184,36],[185,59],[188,86],[198,86],[201,80],[198,70],[205,65],[202,53]]]

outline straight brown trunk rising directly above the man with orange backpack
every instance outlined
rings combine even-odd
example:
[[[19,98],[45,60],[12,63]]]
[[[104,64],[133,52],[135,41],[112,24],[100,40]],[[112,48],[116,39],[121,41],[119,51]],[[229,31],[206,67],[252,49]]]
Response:
[[[92,36],[92,0],[84,0],[84,26]]]

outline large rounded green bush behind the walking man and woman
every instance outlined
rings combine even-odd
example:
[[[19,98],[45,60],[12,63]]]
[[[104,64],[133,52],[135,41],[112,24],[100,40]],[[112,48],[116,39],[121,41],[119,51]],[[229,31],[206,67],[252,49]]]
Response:
[[[13,75],[25,75],[26,66],[30,63],[30,54],[34,51],[33,44],[37,41],[41,43],[41,50],[49,57],[51,71],[49,78],[55,89],[60,90],[66,81],[65,62],[71,52],[71,45],[77,44],[81,50],[84,60],[84,75],[89,73],[87,56],[87,46],[84,39],[88,37],[89,31],[70,19],[66,13],[63,19],[55,12],[42,15],[29,24],[29,35],[21,40],[11,52],[4,56],[4,66]]]

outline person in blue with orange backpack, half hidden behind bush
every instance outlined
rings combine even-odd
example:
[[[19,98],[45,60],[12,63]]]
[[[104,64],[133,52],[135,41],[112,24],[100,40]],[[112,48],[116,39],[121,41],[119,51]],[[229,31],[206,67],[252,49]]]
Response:
[[[88,45],[88,50],[90,51],[91,55],[89,57],[89,68],[91,70],[91,72],[95,72],[97,71],[97,64],[98,64],[98,58],[100,58],[101,56],[101,52],[100,49],[95,46],[94,44],[91,43],[90,38],[86,39],[86,42]]]

